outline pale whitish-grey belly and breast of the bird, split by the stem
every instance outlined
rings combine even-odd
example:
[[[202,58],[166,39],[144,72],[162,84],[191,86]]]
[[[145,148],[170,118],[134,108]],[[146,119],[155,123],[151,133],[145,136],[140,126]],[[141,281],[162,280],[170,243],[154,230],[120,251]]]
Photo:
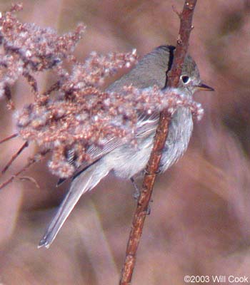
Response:
[[[191,112],[186,108],[179,108],[169,125],[169,134],[161,157],[160,170],[164,172],[181,155],[184,154],[191,133],[193,130],[193,120]],[[154,134],[138,142],[137,147],[131,144],[117,147],[104,157],[104,160],[112,160],[112,170],[118,177],[129,179],[145,169],[151,153]],[[107,162],[108,164],[108,162]]]

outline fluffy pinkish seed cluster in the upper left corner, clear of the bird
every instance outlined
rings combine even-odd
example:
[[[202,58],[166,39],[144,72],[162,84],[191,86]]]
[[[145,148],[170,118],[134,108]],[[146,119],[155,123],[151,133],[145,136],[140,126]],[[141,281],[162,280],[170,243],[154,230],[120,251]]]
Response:
[[[84,32],[82,24],[63,36],[51,28],[23,24],[14,15],[21,9],[21,4],[14,4],[10,11],[0,14],[0,97],[6,95],[9,100],[9,87],[19,76],[31,81],[31,73],[59,65],[74,51]]]

